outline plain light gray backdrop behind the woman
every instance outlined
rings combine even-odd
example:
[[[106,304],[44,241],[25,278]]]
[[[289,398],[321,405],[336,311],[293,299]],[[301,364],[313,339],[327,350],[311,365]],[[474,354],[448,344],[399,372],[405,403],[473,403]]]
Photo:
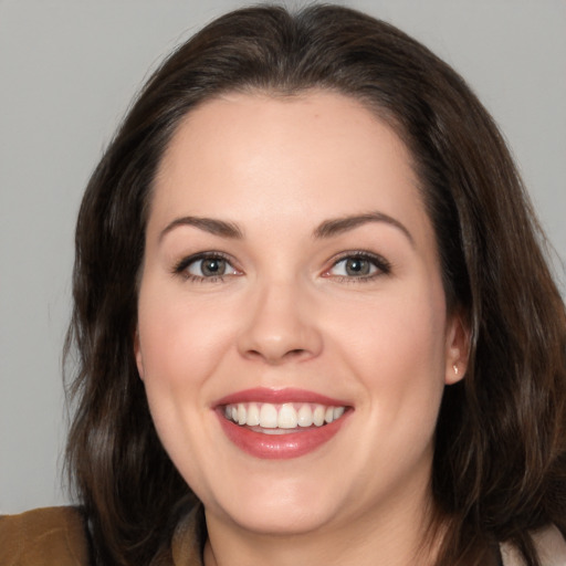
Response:
[[[566,1],[345,3],[413,34],[470,82],[564,261]],[[61,348],[88,175],[148,69],[238,6],[0,0],[0,513],[69,501],[60,481]]]

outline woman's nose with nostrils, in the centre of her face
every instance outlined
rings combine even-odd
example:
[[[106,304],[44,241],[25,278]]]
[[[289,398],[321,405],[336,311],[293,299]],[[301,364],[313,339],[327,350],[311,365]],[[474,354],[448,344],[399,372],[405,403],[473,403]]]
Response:
[[[238,348],[245,358],[274,366],[318,356],[323,338],[313,302],[291,283],[269,284],[254,292]]]

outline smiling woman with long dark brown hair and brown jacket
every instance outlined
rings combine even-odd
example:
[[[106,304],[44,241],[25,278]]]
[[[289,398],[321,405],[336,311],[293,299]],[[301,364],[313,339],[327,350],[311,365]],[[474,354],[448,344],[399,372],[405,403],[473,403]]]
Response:
[[[338,7],[216,20],[83,200],[84,525],[2,536],[57,563],[566,564],[566,317],[539,239],[427,49]]]

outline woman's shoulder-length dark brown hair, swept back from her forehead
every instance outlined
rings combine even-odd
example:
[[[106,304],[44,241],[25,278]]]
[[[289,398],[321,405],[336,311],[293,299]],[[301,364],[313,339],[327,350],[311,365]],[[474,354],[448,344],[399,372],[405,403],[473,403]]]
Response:
[[[448,304],[471,328],[465,378],[446,389],[432,491],[448,524],[438,564],[480,565],[531,532],[566,531],[566,315],[544,240],[493,120],[463,80],[396,28],[336,6],[256,7],[213,21],[157,70],[86,189],[76,228],[67,355],[67,462],[97,560],[148,564],[195,499],[157,438],[134,359],[151,185],[181,118],[228,91],[331,90],[409,147]],[[165,551],[164,551],[165,552]]]

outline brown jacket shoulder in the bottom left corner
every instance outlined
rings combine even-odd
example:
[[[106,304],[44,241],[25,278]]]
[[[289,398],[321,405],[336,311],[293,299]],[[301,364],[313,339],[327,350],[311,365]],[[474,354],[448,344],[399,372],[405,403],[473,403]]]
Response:
[[[45,507],[0,516],[2,566],[84,566],[84,522],[75,507]]]

